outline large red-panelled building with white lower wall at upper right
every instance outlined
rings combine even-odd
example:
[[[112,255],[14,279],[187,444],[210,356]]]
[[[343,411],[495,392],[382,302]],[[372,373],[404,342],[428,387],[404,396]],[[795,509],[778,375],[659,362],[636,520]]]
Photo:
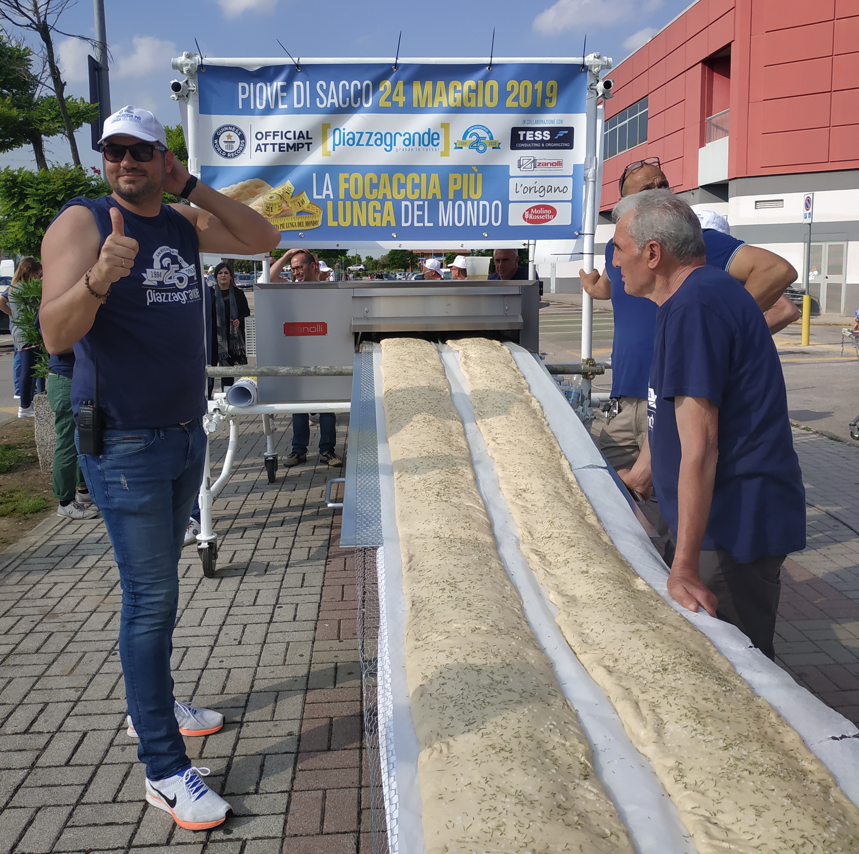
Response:
[[[600,228],[624,167],[657,156],[675,192],[859,308],[859,0],[698,0],[612,70]]]

